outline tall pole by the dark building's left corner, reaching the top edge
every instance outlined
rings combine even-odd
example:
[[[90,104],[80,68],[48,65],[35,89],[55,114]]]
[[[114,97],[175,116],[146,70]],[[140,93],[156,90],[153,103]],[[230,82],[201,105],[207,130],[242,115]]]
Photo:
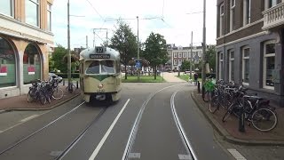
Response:
[[[205,54],[206,54],[206,24],[205,24],[205,21],[206,21],[206,0],[203,0],[203,50],[202,50],[202,73],[201,73],[201,76],[202,76],[202,90],[204,90],[203,86],[204,86],[204,83],[205,83]]]

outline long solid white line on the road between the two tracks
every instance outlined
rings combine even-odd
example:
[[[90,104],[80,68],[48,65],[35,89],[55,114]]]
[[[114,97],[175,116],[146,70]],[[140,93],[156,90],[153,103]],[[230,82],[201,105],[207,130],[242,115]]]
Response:
[[[109,126],[108,130],[106,131],[106,134],[105,134],[104,137],[99,141],[99,145],[98,145],[97,148],[95,148],[95,150],[92,152],[92,154],[91,154],[89,160],[95,159],[95,157],[98,155],[99,149],[104,145],[104,143],[105,143],[105,141],[106,141],[106,139],[107,139],[109,133],[112,132],[112,130],[113,130],[113,128],[114,128],[114,125],[116,124],[118,118],[122,115],[123,110],[126,108],[126,106],[127,106],[127,104],[128,104],[129,102],[130,102],[130,99],[128,99],[128,100],[125,102],[123,108],[122,108],[121,111],[118,113],[118,115],[115,117],[113,124],[111,124],[111,125]]]

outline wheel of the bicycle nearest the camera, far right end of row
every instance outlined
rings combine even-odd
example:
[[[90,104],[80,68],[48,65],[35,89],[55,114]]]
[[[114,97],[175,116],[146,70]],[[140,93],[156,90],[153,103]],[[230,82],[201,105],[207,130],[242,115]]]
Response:
[[[268,132],[275,128],[277,116],[269,108],[259,108],[252,114],[251,123],[256,130]]]

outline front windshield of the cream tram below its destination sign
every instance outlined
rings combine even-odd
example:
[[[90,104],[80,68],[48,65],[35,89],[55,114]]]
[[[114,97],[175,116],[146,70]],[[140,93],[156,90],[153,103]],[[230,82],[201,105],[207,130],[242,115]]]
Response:
[[[100,73],[99,73],[99,67]],[[114,61],[113,60],[93,60],[86,70],[86,74],[114,74]]]

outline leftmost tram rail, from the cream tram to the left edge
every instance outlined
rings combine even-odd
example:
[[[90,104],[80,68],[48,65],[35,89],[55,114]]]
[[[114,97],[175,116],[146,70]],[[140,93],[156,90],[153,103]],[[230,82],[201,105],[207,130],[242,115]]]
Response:
[[[28,134],[28,136],[18,140],[17,142],[13,143],[10,147],[5,148],[4,150],[0,151],[0,156],[3,155],[5,152],[11,150],[12,148],[15,148],[17,146],[19,146],[22,142],[31,139],[32,137],[36,136],[37,133],[42,132],[44,129],[46,129],[47,127],[49,127],[51,124],[55,124],[56,122],[58,122],[60,119],[64,118],[65,116],[69,115],[70,113],[74,112],[77,108],[80,108],[85,102],[80,103],[79,105],[77,105],[75,108],[69,110],[67,113],[65,113],[62,116],[59,116],[58,118],[56,118],[55,120],[51,121],[51,123],[49,124],[45,124],[42,128],[36,130],[36,132],[32,132],[30,134]]]

